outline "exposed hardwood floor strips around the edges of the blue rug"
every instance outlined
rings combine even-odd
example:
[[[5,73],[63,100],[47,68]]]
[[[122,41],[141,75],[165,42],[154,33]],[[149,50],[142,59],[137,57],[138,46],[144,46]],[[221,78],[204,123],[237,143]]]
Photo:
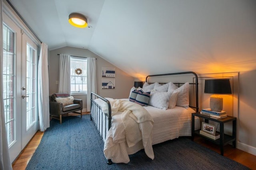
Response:
[[[26,146],[26,148],[22,151],[20,156],[14,161],[12,164],[13,170],[24,170],[26,168],[26,165],[28,164],[30,158],[34,154],[36,148],[38,147],[42,136],[43,132],[38,131],[30,143]],[[220,153],[220,149],[218,145],[212,144],[200,137],[195,137],[194,141],[196,143],[199,143],[200,145],[207,147],[211,150],[214,150],[218,153]],[[102,152],[103,154],[103,152]],[[231,145],[226,145],[224,147],[224,156],[235,160],[247,167],[249,167],[252,170],[256,170],[256,156],[253,154],[249,154],[247,152],[244,152],[240,149],[234,149]]]

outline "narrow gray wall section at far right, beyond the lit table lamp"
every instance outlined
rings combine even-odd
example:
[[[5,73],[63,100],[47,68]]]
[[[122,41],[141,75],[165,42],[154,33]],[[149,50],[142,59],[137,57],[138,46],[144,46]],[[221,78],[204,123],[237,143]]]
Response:
[[[256,70],[240,72],[238,148],[256,155]],[[248,146],[246,146],[248,145]]]

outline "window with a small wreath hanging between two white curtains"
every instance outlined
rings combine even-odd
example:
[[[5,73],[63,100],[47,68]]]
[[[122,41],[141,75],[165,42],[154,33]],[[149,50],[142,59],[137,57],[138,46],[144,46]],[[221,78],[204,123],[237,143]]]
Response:
[[[70,91],[72,95],[87,92],[87,59],[70,57]]]

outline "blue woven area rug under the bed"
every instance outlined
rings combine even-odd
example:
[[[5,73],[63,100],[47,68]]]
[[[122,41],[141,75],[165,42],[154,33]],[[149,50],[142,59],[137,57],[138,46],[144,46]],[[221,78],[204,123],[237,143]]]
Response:
[[[90,115],[53,119],[26,170],[247,170],[246,166],[185,137],[154,145],[155,159],[144,150],[130,155],[128,164],[108,165],[104,144]]]

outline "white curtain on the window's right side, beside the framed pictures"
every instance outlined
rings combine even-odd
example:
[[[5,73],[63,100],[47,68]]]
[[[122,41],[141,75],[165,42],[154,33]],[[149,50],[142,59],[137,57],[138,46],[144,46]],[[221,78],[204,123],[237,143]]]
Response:
[[[96,93],[95,58],[87,58],[87,111],[91,111],[91,92]]]

